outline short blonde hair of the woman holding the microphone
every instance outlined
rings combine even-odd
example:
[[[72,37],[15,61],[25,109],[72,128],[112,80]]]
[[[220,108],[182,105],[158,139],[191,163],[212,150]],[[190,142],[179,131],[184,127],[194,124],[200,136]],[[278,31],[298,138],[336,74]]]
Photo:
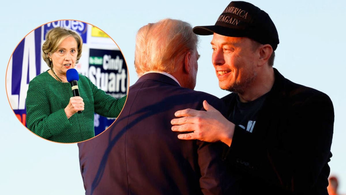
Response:
[[[51,60],[49,60],[48,54],[54,53],[58,49],[58,46],[61,44],[61,42],[63,42],[69,36],[73,36],[77,42],[78,53],[76,63],[78,63],[79,59],[82,56],[82,37],[78,34],[78,32],[74,30],[58,26],[50,29],[47,32],[46,41],[42,45],[42,58],[47,63],[49,68],[53,67],[53,63],[51,62]]]

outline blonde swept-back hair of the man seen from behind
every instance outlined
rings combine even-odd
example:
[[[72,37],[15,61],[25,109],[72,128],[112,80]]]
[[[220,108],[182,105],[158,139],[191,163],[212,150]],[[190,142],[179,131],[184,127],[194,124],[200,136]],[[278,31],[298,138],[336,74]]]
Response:
[[[136,35],[135,68],[138,76],[156,70],[173,73],[183,54],[197,47],[198,37],[189,23],[163,19],[140,28]]]

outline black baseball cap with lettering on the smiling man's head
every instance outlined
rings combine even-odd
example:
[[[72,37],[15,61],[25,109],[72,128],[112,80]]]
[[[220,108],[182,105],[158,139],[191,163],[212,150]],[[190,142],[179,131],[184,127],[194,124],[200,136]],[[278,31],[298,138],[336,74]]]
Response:
[[[196,26],[198,35],[217,33],[224,36],[248,37],[261,44],[270,44],[276,50],[279,35],[269,15],[260,8],[244,1],[232,1],[213,26]]]

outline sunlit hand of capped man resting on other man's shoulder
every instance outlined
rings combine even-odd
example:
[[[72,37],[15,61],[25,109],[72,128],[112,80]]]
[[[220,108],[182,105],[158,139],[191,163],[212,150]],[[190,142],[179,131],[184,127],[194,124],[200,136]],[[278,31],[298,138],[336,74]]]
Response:
[[[205,142],[221,141],[230,146],[235,125],[205,100],[203,107],[206,111],[193,109],[176,111],[174,115],[182,118],[171,120],[172,131],[191,132],[179,134],[179,139],[199,139]]]

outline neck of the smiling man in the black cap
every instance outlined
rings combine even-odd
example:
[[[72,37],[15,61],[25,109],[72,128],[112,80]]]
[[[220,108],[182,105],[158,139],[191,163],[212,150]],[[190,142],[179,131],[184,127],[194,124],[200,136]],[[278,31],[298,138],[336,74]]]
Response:
[[[241,102],[250,102],[268,93],[274,85],[274,69],[268,68],[263,74],[257,75],[256,79],[246,87],[243,93],[238,93]]]

